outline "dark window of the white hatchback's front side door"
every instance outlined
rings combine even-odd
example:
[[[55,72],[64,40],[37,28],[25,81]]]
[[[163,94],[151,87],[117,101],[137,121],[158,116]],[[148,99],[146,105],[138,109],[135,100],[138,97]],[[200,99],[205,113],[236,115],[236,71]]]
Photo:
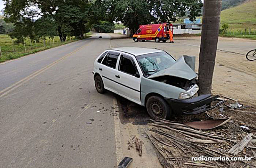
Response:
[[[131,75],[136,74],[137,69],[134,65],[132,57],[121,55],[119,71],[122,71],[124,73],[129,73]]]

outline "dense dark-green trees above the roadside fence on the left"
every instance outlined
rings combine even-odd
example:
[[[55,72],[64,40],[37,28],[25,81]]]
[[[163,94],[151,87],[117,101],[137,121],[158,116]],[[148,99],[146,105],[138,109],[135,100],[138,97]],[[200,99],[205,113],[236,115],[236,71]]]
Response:
[[[32,35],[48,35],[46,30],[49,18],[52,19],[52,27],[55,27],[61,41],[65,41],[67,36],[75,35],[76,38],[83,38],[85,33],[85,23],[88,22],[88,13],[91,1],[88,0],[4,0],[5,21],[14,23],[15,33],[12,37],[20,40]],[[31,8],[33,6],[33,8]],[[40,18],[40,21],[36,23]],[[40,26],[38,24],[41,23]],[[42,24],[46,25],[42,25]],[[30,27],[30,33],[23,31]],[[43,26],[43,27],[42,27]],[[41,27],[41,28],[40,28]],[[42,29],[42,30],[41,30]],[[52,31],[52,29],[51,29]],[[55,34],[52,31],[51,34]]]

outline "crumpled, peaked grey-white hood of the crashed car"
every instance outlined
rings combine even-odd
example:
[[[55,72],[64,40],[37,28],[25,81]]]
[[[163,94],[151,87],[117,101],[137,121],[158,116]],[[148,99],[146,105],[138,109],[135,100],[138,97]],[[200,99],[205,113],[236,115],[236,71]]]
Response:
[[[160,76],[175,76],[184,78],[187,80],[192,80],[197,77],[197,74],[190,68],[190,66],[185,62],[184,57],[180,57],[170,68],[159,71],[148,78],[156,78]]]

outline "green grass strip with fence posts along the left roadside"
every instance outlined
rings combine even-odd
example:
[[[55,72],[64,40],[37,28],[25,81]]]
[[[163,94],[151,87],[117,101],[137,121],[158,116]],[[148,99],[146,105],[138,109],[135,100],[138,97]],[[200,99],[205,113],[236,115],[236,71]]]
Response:
[[[88,38],[88,37],[90,36],[86,36],[85,38]],[[14,44],[15,40],[16,39],[11,39],[6,34],[0,34],[0,47],[2,50],[2,56],[0,56],[0,62],[23,57],[28,54],[33,54],[39,51],[47,50],[53,47],[57,47],[63,44],[77,41],[77,39],[73,37],[72,40],[70,39],[66,42],[60,42],[60,38],[56,36],[54,38],[54,44],[53,44],[52,39],[49,39],[47,37],[45,40],[45,46],[44,46],[43,40],[40,40],[39,42],[30,43],[30,40],[26,39],[25,41],[26,51],[25,51],[24,44],[19,44],[19,45]]]

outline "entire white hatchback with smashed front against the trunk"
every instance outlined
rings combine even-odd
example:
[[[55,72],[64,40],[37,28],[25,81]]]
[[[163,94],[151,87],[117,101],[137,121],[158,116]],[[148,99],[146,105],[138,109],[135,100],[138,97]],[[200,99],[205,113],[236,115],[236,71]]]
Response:
[[[197,96],[197,74],[189,59],[182,56],[176,61],[158,49],[122,47],[106,50],[94,62],[95,88],[99,93],[107,89],[146,106],[152,118],[197,114],[224,103],[217,99],[218,95]]]

